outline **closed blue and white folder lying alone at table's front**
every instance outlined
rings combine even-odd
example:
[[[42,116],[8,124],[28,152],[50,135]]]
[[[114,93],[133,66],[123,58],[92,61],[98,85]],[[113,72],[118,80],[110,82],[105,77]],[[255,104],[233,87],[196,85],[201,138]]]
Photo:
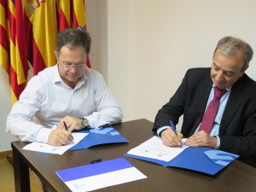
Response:
[[[124,158],[106,160],[56,172],[72,191],[91,191],[128,183],[146,176]]]

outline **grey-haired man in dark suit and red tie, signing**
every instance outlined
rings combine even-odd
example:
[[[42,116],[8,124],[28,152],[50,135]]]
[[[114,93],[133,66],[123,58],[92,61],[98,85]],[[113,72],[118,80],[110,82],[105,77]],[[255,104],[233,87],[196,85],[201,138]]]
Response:
[[[154,133],[166,146],[177,146],[187,137],[190,147],[239,154],[239,160],[256,167],[256,82],[245,73],[252,57],[253,49],[241,39],[220,39],[212,67],[187,71],[174,96],[157,113]],[[217,88],[225,93],[207,132],[201,128],[202,119]],[[181,115],[182,129],[175,133],[169,121],[176,125]]]

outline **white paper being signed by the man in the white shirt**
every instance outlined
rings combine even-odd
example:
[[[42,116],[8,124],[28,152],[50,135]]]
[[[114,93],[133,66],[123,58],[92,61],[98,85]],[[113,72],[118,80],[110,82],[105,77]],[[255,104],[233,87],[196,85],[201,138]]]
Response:
[[[49,154],[64,154],[68,148],[72,148],[74,145],[79,143],[84,137],[88,135],[88,133],[72,133],[72,135],[73,135],[73,141],[68,143],[67,145],[62,145],[60,147],[55,147],[47,143],[33,142],[30,144],[27,144],[22,149],[44,152]]]

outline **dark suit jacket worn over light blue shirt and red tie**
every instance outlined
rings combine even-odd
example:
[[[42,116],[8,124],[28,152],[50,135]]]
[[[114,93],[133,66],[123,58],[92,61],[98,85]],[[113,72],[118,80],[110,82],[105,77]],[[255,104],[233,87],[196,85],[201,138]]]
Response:
[[[194,68],[187,71],[174,96],[157,113],[154,132],[169,125],[169,119],[177,124],[183,114],[183,136],[194,134],[201,123],[212,89],[210,70]],[[239,160],[256,167],[256,82],[247,74],[233,84],[218,137],[220,150],[239,154]]]

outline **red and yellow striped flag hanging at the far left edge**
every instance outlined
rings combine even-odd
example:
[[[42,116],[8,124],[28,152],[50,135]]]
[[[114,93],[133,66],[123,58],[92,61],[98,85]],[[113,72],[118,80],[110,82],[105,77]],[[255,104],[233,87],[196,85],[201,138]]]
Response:
[[[0,65],[9,73],[12,103],[26,87],[27,60],[22,1],[0,0]]]

